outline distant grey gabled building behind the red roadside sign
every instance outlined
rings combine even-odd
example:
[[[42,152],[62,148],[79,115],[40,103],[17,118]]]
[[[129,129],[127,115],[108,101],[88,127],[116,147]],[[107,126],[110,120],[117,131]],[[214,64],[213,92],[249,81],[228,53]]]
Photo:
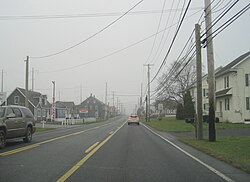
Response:
[[[107,106],[92,94],[77,106],[80,118],[105,119]]]

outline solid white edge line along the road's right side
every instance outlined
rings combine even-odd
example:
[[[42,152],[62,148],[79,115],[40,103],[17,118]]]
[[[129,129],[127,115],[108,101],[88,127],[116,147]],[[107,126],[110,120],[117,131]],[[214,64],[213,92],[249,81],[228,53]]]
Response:
[[[177,146],[176,144],[174,144],[173,142],[169,141],[168,139],[164,138],[163,136],[161,136],[160,134],[156,133],[155,131],[153,131],[152,129],[150,129],[149,127],[147,127],[146,125],[142,124],[145,128],[147,128],[149,131],[151,131],[153,134],[157,135],[158,137],[160,137],[161,139],[163,139],[164,141],[168,142],[169,144],[171,144],[172,146],[174,146],[175,148],[177,148],[178,150],[180,150],[181,152],[183,152],[184,154],[186,154],[187,156],[191,157],[193,160],[197,161],[198,163],[200,163],[201,165],[203,165],[204,167],[208,168],[210,171],[212,171],[213,173],[217,174],[218,176],[220,176],[221,178],[223,178],[224,180],[226,180],[227,182],[234,182],[234,180],[230,179],[229,177],[227,177],[226,175],[224,175],[223,173],[221,173],[220,171],[214,169],[213,167],[211,167],[210,165],[202,162],[200,159],[196,158],[195,156],[193,156],[192,154],[188,153],[187,151],[183,150],[181,147]]]

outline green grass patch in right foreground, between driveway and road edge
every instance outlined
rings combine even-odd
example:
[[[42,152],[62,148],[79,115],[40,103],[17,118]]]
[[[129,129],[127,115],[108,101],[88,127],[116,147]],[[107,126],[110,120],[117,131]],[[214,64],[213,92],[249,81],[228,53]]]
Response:
[[[217,137],[216,142],[190,137],[180,138],[180,141],[250,173],[250,136]]]

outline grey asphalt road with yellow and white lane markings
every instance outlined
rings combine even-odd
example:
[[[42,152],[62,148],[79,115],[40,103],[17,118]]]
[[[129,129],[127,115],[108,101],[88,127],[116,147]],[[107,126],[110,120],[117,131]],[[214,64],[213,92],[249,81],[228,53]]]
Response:
[[[250,181],[250,175],[125,118],[8,141],[0,181]]]

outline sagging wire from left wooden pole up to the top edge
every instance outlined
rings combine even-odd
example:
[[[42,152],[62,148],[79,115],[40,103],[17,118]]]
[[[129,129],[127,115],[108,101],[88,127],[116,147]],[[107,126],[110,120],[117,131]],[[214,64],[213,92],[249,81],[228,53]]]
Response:
[[[136,6],[138,6],[140,3],[142,3],[144,0],[141,0],[139,1],[138,3],[136,3],[132,8],[130,8],[128,11],[126,11],[123,15],[121,15],[120,17],[118,17],[117,19],[115,19],[114,21],[112,21],[111,23],[109,23],[107,26],[105,26],[104,28],[102,28],[101,30],[99,30],[98,32],[94,33],[93,35],[91,35],[90,37],[82,40],[81,42],[73,45],[73,46],[70,46],[66,49],[63,49],[61,51],[58,51],[58,52],[55,52],[55,53],[52,53],[52,54],[48,54],[48,55],[45,55],[45,56],[30,56],[31,59],[42,59],[42,58],[47,58],[47,57],[52,57],[52,56],[55,56],[55,55],[58,55],[58,54],[61,54],[63,52],[66,52],[70,49],[73,49],[81,44],[83,44],[84,42],[92,39],[93,37],[95,37],[96,35],[100,34],[101,32],[103,32],[104,30],[106,30],[107,28],[109,28],[111,25],[115,24],[117,21],[119,21],[121,18],[123,18],[125,15],[127,15],[132,9],[134,9]]]

